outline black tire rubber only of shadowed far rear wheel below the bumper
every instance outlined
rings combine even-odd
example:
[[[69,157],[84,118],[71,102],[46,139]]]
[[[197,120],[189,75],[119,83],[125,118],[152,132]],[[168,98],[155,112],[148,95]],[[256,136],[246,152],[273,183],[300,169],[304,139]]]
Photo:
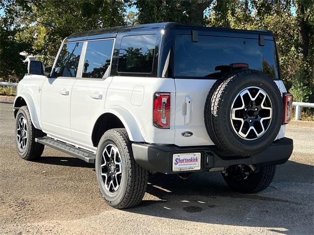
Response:
[[[260,167],[257,173],[251,172],[247,179],[243,181],[235,180],[234,175],[228,172],[222,176],[230,188],[242,193],[256,193],[267,188],[273,181],[276,172],[276,165]]]

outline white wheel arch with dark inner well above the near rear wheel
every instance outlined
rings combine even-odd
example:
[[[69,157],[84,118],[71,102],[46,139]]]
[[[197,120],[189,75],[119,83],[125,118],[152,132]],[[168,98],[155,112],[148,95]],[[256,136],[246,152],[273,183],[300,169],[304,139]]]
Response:
[[[93,145],[97,147],[103,134],[113,128],[126,128],[131,141],[144,142],[141,131],[131,113],[122,107],[114,106],[106,109],[97,118],[91,136]]]

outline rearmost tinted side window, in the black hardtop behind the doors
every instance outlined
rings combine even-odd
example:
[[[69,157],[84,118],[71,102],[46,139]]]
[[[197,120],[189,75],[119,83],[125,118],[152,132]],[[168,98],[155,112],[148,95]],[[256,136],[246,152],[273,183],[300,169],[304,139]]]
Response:
[[[118,72],[151,73],[155,45],[155,34],[123,37],[118,59]]]

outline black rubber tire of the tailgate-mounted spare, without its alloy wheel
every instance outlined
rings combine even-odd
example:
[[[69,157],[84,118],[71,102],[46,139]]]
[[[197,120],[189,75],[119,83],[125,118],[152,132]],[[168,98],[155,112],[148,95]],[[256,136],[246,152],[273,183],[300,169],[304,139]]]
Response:
[[[265,133],[256,140],[246,140],[233,129],[231,109],[233,100],[248,87],[261,88],[272,105],[272,118]],[[274,81],[261,71],[242,69],[220,77],[206,99],[204,121],[209,138],[224,152],[252,156],[266,149],[279,133],[283,117],[281,93]]]

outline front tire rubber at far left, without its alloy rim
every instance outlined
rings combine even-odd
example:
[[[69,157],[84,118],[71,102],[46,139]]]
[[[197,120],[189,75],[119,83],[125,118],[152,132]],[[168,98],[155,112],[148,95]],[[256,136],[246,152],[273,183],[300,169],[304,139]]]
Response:
[[[21,134],[18,130],[19,121],[21,123],[25,121],[23,125],[25,124],[26,126],[26,130],[24,132],[26,136],[25,145],[23,145],[24,148],[22,144],[19,144],[20,139],[18,135]],[[41,130],[36,129],[32,124],[27,106],[22,106],[15,118],[15,145],[19,156],[27,161],[39,158],[44,151],[45,145],[35,142],[35,138],[43,136],[44,133]]]

